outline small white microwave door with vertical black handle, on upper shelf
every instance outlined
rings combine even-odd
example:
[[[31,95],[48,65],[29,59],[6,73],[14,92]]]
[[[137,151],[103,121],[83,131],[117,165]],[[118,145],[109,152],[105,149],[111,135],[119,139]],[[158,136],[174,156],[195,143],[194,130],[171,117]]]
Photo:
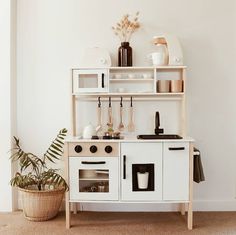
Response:
[[[108,92],[107,69],[73,70],[73,93]]]

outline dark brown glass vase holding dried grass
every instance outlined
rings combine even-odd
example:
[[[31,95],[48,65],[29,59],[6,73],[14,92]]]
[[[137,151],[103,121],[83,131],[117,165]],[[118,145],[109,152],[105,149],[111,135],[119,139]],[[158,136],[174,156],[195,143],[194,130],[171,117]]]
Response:
[[[129,42],[122,42],[118,49],[118,66],[132,66],[132,47]]]

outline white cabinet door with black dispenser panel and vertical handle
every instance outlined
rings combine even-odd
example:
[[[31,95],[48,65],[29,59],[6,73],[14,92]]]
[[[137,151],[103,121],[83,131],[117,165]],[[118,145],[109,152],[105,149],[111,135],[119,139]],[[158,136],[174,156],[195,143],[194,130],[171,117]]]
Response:
[[[148,188],[138,184],[138,172],[149,172]],[[162,144],[121,143],[121,198],[123,201],[162,200]]]

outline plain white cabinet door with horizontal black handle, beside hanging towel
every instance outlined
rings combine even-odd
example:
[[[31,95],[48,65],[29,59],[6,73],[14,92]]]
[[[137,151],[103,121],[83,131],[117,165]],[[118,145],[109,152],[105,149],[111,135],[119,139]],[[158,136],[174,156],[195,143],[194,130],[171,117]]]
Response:
[[[163,200],[189,200],[189,143],[164,143]]]

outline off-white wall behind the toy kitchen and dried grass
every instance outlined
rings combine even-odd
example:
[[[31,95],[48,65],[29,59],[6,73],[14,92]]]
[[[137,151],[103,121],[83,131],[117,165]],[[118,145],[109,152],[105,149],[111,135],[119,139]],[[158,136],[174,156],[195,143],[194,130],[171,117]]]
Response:
[[[176,34],[188,66],[189,134],[202,151],[206,182],[195,184],[196,209],[236,209],[234,0],[19,0],[18,136],[43,153],[61,127],[70,128],[70,68],[84,48],[106,47],[116,63],[111,26],[140,11],[131,45],[135,65],[147,64],[150,40]]]

